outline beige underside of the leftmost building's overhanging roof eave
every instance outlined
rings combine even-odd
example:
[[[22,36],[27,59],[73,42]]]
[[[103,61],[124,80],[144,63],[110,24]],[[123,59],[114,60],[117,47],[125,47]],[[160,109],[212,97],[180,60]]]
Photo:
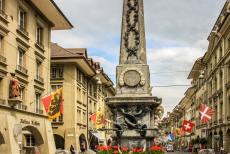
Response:
[[[73,25],[53,0],[30,0],[34,6],[53,24],[52,30],[71,29]]]

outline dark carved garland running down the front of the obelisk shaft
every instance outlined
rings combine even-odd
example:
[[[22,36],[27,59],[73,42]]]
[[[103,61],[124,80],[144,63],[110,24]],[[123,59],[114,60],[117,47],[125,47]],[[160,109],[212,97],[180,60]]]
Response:
[[[124,36],[124,45],[128,53],[127,60],[130,57],[138,59],[137,51],[140,44],[140,33],[138,29],[138,12],[139,5],[138,0],[128,0],[127,2],[127,12],[126,12],[126,32]],[[131,42],[134,42],[131,44]]]

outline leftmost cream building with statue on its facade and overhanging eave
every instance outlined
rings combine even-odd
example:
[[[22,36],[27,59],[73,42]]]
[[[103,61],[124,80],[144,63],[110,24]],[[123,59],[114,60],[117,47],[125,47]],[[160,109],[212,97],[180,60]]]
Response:
[[[0,153],[55,153],[40,99],[50,91],[51,30],[72,27],[53,1],[0,0]]]

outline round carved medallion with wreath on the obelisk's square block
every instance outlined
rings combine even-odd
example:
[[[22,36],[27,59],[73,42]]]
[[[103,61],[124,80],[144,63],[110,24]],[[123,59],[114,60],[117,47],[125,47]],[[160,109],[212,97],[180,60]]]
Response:
[[[144,86],[145,85],[145,77],[144,74],[138,70],[137,68],[128,68],[125,69],[120,74],[119,78],[119,85],[120,86],[129,86],[129,87],[135,87],[135,86]]]

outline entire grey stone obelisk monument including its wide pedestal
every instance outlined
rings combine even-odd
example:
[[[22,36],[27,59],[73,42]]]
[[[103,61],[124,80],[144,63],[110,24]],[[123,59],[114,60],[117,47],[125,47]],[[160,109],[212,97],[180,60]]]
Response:
[[[121,146],[149,147],[154,138],[156,108],[146,59],[143,0],[124,0],[116,95],[106,100],[114,113],[113,139]]]

